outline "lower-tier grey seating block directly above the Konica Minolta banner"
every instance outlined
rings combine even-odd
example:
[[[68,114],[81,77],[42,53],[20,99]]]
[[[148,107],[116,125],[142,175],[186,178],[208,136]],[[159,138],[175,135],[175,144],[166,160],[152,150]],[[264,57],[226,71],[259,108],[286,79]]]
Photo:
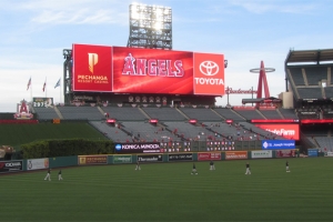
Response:
[[[122,122],[122,128],[134,135],[139,141],[145,142],[162,142],[172,140],[180,140],[176,135],[161,127],[154,127],[147,122]]]

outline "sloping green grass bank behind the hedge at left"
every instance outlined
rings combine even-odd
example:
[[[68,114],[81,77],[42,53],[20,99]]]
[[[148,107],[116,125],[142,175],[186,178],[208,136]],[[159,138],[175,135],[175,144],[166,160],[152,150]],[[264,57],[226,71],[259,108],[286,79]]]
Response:
[[[0,124],[0,145],[21,145],[36,140],[48,139],[101,139],[105,137],[85,122],[38,124]]]

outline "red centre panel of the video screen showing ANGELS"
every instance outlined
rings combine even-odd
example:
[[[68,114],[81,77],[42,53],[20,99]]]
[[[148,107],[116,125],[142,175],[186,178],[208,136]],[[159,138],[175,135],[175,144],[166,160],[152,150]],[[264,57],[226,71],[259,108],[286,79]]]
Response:
[[[193,94],[192,54],[113,47],[113,92]]]

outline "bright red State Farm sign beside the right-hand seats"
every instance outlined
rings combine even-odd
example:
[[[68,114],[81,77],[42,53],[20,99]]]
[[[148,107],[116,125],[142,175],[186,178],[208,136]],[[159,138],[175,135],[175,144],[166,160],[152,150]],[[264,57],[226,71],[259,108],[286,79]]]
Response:
[[[300,140],[299,124],[254,124],[265,131],[281,135],[289,140]]]

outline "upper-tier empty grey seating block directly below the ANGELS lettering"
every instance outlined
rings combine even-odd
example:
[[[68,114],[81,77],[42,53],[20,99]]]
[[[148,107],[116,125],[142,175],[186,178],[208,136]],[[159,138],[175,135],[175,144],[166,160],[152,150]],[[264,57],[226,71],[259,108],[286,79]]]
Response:
[[[151,118],[161,121],[183,121],[186,120],[175,108],[142,108],[142,110]]]

